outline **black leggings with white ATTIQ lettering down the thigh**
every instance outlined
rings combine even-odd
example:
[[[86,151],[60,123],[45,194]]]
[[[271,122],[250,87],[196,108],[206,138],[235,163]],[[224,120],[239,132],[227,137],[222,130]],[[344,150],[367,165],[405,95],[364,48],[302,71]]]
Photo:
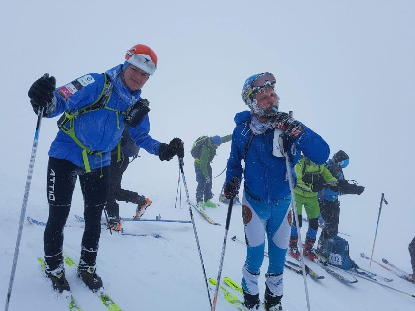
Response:
[[[43,236],[48,270],[62,265],[63,228],[71,208],[77,176],[84,197],[85,217],[80,262],[85,267],[95,265],[101,235],[101,214],[109,193],[108,166],[86,173],[70,161],[49,158],[46,191],[49,217]]]

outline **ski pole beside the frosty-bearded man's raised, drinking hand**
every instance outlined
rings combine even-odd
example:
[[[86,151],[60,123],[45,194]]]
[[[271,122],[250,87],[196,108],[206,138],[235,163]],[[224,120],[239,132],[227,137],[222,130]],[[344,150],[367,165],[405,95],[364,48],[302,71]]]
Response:
[[[293,111],[290,111],[290,116],[291,117],[294,116]],[[307,287],[307,279],[306,279],[307,274],[305,271],[304,254],[302,252],[302,238],[301,238],[301,233],[300,233],[300,222],[298,220],[297,204],[295,202],[295,195],[294,195],[294,181],[293,181],[293,176],[291,173],[290,157],[288,155],[288,138],[285,134],[283,134],[282,136],[283,136],[283,145],[284,145],[285,165],[287,167],[288,183],[290,186],[292,204],[294,206],[294,217],[295,217],[295,222],[296,222],[296,227],[297,227],[298,239],[300,240],[299,246],[300,246],[300,257],[301,257],[301,265],[302,265],[302,276],[304,278],[305,298],[307,300],[307,309],[308,311],[310,311],[310,299],[308,297],[308,287]]]

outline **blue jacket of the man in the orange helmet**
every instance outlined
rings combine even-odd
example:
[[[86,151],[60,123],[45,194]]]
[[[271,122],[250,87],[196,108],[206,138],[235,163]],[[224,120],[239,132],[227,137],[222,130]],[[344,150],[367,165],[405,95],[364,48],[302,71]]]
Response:
[[[128,107],[135,104],[141,98],[141,90],[131,93],[121,79],[122,64],[108,70],[106,74],[113,82],[113,93],[107,104],[108,107],[125,112]],[[99,98],[105,83],[103,74],[90,73],[71,83],[59,87],[55,91],[56,109],[49,117],[55,117],[66,110],[79,108],[92,104]],[[117,114],[119,128],[117,123]],[[124,130],[124,116],[121,113],[105,108],[81,114],[75,118],[75,135],[79,141],[92,151],[102,153],[102,159],[98,155],[88,154],[91,169],[110,164],[111,150],[117,146]],[[127,126],[131,138],[137,147],[144,148],[151,154],[158,155],[160,142],[149,135],[150,121],[148,115],[135,128]],[[85,169],[82,159],[82,148],[75,141],[59,130],[48,155],[57,159],[71,161]]]

